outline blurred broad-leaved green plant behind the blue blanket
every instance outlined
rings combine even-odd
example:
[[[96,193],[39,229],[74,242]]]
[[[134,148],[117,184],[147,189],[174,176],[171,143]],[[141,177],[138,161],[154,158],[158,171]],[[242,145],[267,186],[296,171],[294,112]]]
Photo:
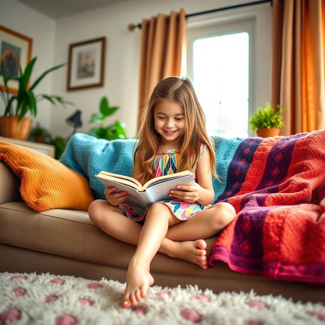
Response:
[[[104,125],[106,119],[118,109],[118,106],[109,106],[108,99],[104,96],[99,105],[100,112],[92,114],[89,119],[89,123],[98,123],[100,126],[90,129],[89,134],[93,137],[106,140],[127,139],[124,123],[116,120],[113,124],[108,126]]]

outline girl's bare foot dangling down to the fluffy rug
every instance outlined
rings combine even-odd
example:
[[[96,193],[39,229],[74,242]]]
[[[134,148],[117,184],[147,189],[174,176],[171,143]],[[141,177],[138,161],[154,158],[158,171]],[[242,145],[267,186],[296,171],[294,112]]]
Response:
[[[123,307],[136,305],[147,295],[149,286],[154,282],[149,268],[140,262],[131,261],[126,275],[126,288],[123,296]]]

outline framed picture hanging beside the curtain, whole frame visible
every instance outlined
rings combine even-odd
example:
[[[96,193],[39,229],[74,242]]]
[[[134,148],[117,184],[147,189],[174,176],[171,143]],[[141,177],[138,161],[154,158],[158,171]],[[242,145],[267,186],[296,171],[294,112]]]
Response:
[[[67,90],[104,85],[106,38],[70,44]]]

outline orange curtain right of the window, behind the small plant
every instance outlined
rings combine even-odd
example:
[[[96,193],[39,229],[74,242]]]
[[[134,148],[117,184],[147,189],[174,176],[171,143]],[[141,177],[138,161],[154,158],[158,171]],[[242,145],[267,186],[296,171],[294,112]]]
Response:
[[[282,135],[325,128],[325,0],[273,0],[271,103]]]

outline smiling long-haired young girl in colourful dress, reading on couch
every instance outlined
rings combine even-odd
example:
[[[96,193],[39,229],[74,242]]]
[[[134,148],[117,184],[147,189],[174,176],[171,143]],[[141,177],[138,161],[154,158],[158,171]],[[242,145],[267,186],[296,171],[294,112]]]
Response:
[[[236,215],[228,203],[211,205],[215,156],[205,117],[191,82],[171,77],[154,88],[142,116],[134,156],[134,178],[144,184],[153,177],[190,170],[196,183],[171,190],[170,201],[153,203],[146,211],[127,204],[126,192],[105,189],[107,201],[89,207],[91,221],[121,241],[137,245],[128,265],[123,307],[145,297],[153,277],[150,263],[157,251],[207,269],[207,244]],[[127,218],[125,217],[127,216]]]

